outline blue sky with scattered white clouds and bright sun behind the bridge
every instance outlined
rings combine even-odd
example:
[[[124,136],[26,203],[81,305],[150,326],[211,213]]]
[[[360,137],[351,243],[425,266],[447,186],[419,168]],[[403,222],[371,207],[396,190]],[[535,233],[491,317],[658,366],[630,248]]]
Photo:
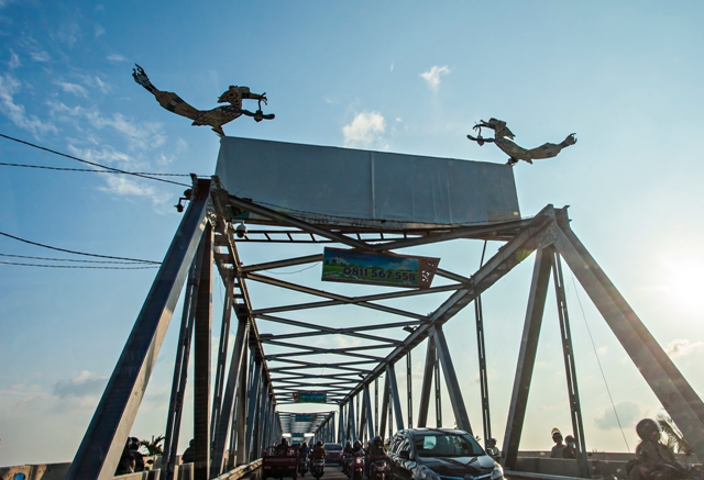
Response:
[[[158,107],[134,83],[134,63],[157,88],[201,109],[229,85],[267,92],[276,120],[240,119],[226,125],[229,135],[504,163],[493,145],[466,139],[475,122],[505,120],[526,147],[576,132],[578,144],[559,157],[515,167],[521,213],[571,205],[573,230],[702,393],[703,13],[695,1],[0,0],[0,133],[116,168],[212,174],[218,137]],[[3,138],[0,157],[81,167]],[[160,260],[182,193],[132,178],[0,166],[0,231]],[[440,256],[469,275],[481,247],[409,254]],[[251,261],[264,256],[243,250]],[[7,237],[0,253],[59,256]],[[530,270],[531,260],[484,299],[499,444]],[[0,265],[0,465],[73,458],[154,272]],[[658,402],[584,292],[565,281],[587,448],[626,450],[596,350],[632,449],[632,426]],[[213,300],[221,298],[216,283]],[[549,448],[553,426],[569,429],[556,319],[549,310],[525,449]],[[133,428],[140,437],[164,429],[173,325]],[[447,330],[479,429],[470,309]],[[421,359],[418,351],[418,375]],[[444,417],[451,425],[449,409]]]

